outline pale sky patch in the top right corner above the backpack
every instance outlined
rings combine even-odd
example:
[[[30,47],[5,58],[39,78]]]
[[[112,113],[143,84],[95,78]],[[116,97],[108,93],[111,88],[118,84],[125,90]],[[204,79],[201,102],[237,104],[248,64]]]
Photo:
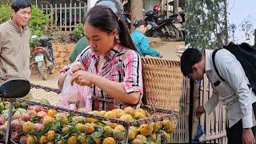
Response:
[[[234,32],[235,42],[249,42],[254,44],[253,29],[256,29],[256,0],[227,0],[229,24],[234,23],[238,28]],[[250,31],[250,39],[246,39],[242,31],[242,23],[251,22],[253,29]],[[240,26],[239,26],[240,25]],[[229,31],[230,32],[230,31]],[[232,33],[230,33],[232,35]],[[230,39],[233,41],[233,38]]]

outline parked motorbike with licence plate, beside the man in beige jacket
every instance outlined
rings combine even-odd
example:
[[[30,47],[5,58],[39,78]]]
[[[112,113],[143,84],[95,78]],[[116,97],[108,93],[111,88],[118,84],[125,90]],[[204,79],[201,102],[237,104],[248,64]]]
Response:
[[[53,47],[50,44],[50,36],[42,36],[40,38],[34,38],[35,41],[40,43],[40,46],[34,47],[34,60],[38,65],[40,76],[43,80],[46,80],[48,74],[54,73],[54,52]]]

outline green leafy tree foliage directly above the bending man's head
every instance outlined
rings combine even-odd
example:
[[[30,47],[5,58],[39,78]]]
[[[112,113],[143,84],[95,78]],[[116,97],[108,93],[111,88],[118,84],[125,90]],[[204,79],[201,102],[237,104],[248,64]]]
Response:
[[[224,0],[186,0],[186,46],[215,49],[224,43]]]

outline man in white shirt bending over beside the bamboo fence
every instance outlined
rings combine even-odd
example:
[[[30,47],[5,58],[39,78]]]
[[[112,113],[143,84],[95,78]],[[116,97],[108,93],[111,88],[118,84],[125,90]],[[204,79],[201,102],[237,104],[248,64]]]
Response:
[[[218,50],[215,54],[215,66],[225,81],[222,81],[214,69],[214,50],[186,49],[181,57],[181,70],[184,76],[201,80],[206,74],[213,88],[213,95],[204,106],[199,106],[197,114],[210,114],[218,102],[226,105],[229,126],[227,138],[229,144],[255,143],[256,96],[251,90],[240,62],[230,51]]]

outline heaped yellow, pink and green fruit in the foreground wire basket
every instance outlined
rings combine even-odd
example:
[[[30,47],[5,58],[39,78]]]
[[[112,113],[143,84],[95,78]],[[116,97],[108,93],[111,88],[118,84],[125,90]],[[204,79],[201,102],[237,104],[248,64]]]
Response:
[[[0,102],[0,131],[6,131],[6,114],[8,102]],[[15,106],[13,120],[11,122],[11,138],[17,143],[121,143],[125,134],[125,127],[113,122],[98,121],[95,118],[69,113],[48,110],[42,106]],[[90,112],[108,118],[118,118],[132,122],[146,118],[146,110],[126,107],[124,110],[114,109],[110,111]],[[175,129],[174,122],[170,120],[130,126],[129,143],[170,143],[171,134]]]

